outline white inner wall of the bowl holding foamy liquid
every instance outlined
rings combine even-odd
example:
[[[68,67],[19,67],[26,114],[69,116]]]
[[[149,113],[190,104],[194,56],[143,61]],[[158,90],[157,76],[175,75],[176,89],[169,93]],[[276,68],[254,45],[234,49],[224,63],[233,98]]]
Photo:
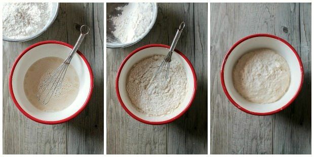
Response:
[[[39,110],[28,101],[24,93],[23,82],[26,71],[35,61],[45,57],[59,57],[65,59],[69,55],[70,51],[71,49],[69,47],[60,44],[44,44],[30,49],[16,64],[12,75],[12,88],[14,96],[22,109],[36,119],[43,121],[59,121],[66,119],[78,111],[87,101],[91,88],[90,72],[87,64],[77,53],[74,54],[70,64],[73,66],[78,75],[80,89],[78,90],[77,97],[73,103],[67,108],[56,112],[45,112]]]

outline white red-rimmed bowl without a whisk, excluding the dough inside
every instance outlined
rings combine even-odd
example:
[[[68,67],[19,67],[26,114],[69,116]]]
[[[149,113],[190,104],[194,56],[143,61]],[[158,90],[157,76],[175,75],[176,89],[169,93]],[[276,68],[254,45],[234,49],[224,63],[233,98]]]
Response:
[[[232,82],[232,69],[239,58],[261,48],[274,50],[284,57],[291,73],[290,86],[284,96],[267,104],[247,101],[235,90]],[[287,108],[298,96],[303,84],[303,65],[298,53],[287,41],[271,34],[252,34],[235,43],[227,52],[221,66],[220,80],[224,93],[234,106],[253,115],[270,115]]]

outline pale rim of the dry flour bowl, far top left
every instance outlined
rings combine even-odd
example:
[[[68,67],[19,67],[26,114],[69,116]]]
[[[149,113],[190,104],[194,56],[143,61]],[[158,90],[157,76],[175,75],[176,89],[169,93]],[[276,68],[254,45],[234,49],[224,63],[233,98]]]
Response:
[[[40,31],[38,31],[37,33],[35,33],[35,34],[31,35],[31,36],[24,37],[24,38],[18,38],[18,39],[9,38],[9,37],[6,37],[6,36],[3,35],[2,36],[3,37],[3,41],[7,41],[7,42],[26,42],[26,41],[32,40],[33,38],[36,38],[36,37],[42,35],[55,22],[55,20],[56,20],[56,18],[58,16],[60,4],[59,3],[53,3],[53,4],[56,4],[56,11],[54,12],[54,15],[51,16],[51,17],[53,17],[52,21],[45,25],[45,27],[47,26],[46,28],[42,28]]]

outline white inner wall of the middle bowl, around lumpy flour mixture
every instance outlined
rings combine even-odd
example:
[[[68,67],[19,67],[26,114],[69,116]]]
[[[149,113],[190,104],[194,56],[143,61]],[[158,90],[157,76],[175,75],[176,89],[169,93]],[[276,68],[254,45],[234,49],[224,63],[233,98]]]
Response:
[[[139,117],[140,119],[150,121],[150,122],[163,122],[163,121],[170,120],[176,115],[180,114],[188,106],[192,98],[193,91],[194,91],[194,78],[193,78],[192,70],[190,66],[187,64],[187,62],[184,60],[184,58],[178,53],[174,52],[172,54],[171,59],[178,60],[182,63],[186,72],[186,77],[187,77],[187,82],[188,82],[189,90],[184,98],[183,103],[181,103],[179,107],[176,108],[172,113],[164,115],[164,116],[147,116],[146,114],[139,112],[133,106],[126,90],[127,78],[128,78],[128,74],[132,66],[146,57],[149,57],[152,55],[167,55],[168,52],[169,52],[169,49],[162,48],[162,47],[150,47],[150,48],[140,50],[127,60],[127,62],[125,63],[125,65],[123,66],[121,70],[120,77],[118,78],[119,79],[118,86],[119,86],[121,99],[123,103],[125,104],[125,106],[127,107],[127,109],[133,114],[135,114],[137,117]]]

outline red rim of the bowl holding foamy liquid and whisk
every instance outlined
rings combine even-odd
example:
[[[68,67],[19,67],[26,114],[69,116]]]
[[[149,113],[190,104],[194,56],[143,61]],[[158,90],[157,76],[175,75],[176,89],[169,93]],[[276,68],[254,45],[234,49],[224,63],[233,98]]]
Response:
[[[89,64],[89,62],[87,61],[87,59],[85,58],[85,56],[80,52],[80,51],[76,51],[76,53],[78,55],[80,55],[82,57],[82,59],[84,60],[85,64],[87,65],[88,67],[88,70],[89,70],[89,73],[90,73],[90,79],[91,79],[91,84],[90,84],[90,91],[89,91],[89,94],[88,94],[88,97],[86,99],[86,101],[84,102],[83,106],[78,109],[74,114],[70,115],[69,117],[66,117],[65,119],[63,120],[58,120],[58,121],[44,121],[44,120],[40,120],[40,119],[37,119],[35,118],[34,116],[28,114],[21,106],[20,104],[17,102],[15,96],[14,96],[14,93],[13,93],[13,87],[12,87],[12,77],[13,77],[13,73],[14,73],[14,70],[15,70],[15,67],[17,65],[17,63],[19,62],[19,60],[24,56],[24,54],[26,54],[29,50],[31,50],[32,48],[34,47],[37,47],[37,46],[40,46],[40,45],[44,45],[44,44],[59,44],[59,45],[63,45],[63,46],[66,46],[66,47],[69,47],[70,49],[73,48],[73,46],[67,44],[67,43],[63,43],[63,42],[59,42],[59,41],[44,41],[44,42],[39,42],[39,43],[36,43],[36,44],[33,44],[29,47],[27,47],[18,57],[17,59],[14,61],[13,63],[13,66],[11,68],[11,71],[10,71],[10,76],[9,76],[9,90],[10,90],[10,94],[11,94],[11,98],[14,102],[14,104],[16,105],[16,107],[25,115],[27,116],[29,119],[35,121],[35,122],[38,122],[38,123],[42,123],[42,124],[60,124],[60,123],[64,123],[64,122],[67,122],[71,119],[73,119],[77,114],[79,114],[80,112],[83,111],[83,109],[86,107],[86,105],[88,104],[91,96],[92,96],[92,92],[93,92],[93,87],[94,87],[94,76],[93,76],[93,71],[92,71],[92,68]]]

